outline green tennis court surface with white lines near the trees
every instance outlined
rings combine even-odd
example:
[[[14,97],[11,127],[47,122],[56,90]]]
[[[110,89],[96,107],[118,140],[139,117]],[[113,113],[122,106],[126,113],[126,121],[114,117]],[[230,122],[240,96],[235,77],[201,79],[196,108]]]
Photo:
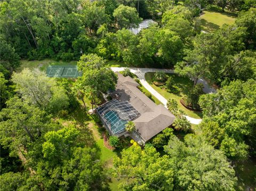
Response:
[[[47,76],[57,78],[77,78],[82,73],[77,70],[76,65],[50,65],[46,70]]]

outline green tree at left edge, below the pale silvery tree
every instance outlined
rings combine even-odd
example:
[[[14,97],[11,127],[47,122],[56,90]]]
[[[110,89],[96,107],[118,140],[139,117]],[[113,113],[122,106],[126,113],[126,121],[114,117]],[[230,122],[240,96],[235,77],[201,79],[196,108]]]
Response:
[[[44,111],[34,105],[13,97],[6,102],[1,113],[1,144],[10,147],[11,155],[21,147],[33,147],[33,142],[41,137],[48,127]]]

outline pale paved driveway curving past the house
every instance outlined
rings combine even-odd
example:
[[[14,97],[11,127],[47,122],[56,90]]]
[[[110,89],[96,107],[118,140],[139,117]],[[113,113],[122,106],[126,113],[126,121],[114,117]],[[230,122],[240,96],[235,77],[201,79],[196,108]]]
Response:
[[[125,68],[124,67],[111,67],[111,69],[114,71],[114,72],[119,72],[119,71],[122,71],[124,70]],[[167,99],[165,99],[161,94],[159,94],[153,87],[151,87],[148,82],[146,81],[145,79],[145,73],[147,72],[157,72],[157,71],[163,71],[165,73],[174,73],[173,70],[167,70],[167,69],[153,69],[153,68],[128,68],[130,69],[130,71],[134,74],[136,74],[141,82],[141,84],[152,94],[154,95],[160,102],[163,103],[163,105],[165,107],[166,104],[167,104]],[[215,89],[209,87],[209,85],[207,84],[206,81],[204,81],[203,79],[199,79],[198,80],[198,83],[201,83],[204,85],[204,92],[205,93],[214,93],[215,92]],[[195,118],[191,118],[187,115],[185,115],[185,117],[187,118],[187,120],[190,122],[190,123],[193,123],[193,124],[199,124],[202,119],[195,119]]]

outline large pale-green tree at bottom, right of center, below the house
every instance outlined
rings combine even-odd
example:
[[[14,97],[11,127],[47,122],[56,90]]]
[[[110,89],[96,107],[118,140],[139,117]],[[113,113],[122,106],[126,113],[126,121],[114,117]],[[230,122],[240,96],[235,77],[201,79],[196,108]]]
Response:
[[[201,137],[185,136],[185,143],[171,137],[165,152],[171,157],[174,188],[178,190],[235,190],[235,171],[225,155]]]

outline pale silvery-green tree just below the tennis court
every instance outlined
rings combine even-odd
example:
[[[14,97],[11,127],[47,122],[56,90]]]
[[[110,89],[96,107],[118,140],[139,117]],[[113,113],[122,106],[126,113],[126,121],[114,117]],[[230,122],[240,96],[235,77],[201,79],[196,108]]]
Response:
[[[38,69],[33,71],[24,69],[20,73],[14,73],[12,80],[17,85],[17,92],[22,98],[41,109],[57,113],[69,105],[64,88]]]

